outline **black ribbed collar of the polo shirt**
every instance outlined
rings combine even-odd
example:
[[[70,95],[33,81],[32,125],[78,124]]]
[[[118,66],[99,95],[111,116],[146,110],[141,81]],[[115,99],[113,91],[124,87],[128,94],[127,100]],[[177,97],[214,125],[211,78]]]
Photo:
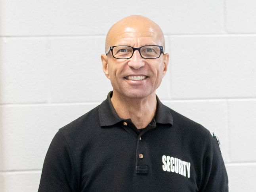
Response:
[[[113,91],[110,91],[107,95],[107,99],[99,105],[99,122],[101,127],[115,125],[118,122],[124,121],[120,118],[111,102]],[[159,98],[157,98],[157,110],[155,113],[155,122],[159,124],[171,124],[173,125],[173,118],[170,110],[167,106],[163,105]]]

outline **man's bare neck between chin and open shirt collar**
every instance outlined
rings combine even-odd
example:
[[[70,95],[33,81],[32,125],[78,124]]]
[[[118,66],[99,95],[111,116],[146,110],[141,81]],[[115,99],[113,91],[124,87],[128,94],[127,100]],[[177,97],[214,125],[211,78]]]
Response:
[[[153,117],[157,108],[155,92],[145,98],[130,98],[119,95],[113,91],[111,102],[120,118],[131,119],[138,128],[146,127]]]

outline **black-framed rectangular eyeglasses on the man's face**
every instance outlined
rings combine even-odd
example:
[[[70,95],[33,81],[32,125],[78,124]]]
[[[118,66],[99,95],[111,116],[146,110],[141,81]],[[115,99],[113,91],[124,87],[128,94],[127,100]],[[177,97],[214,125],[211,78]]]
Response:
[[[161,53],[164,54],[164,48],[162,46],[147,45],[140,48],[113,46],[107,49],[106,55],[111,51],[113,57],[116,59],[130,59],[135,50],[138,50],[140,56],[144,59],[156,59],[160,57]]]

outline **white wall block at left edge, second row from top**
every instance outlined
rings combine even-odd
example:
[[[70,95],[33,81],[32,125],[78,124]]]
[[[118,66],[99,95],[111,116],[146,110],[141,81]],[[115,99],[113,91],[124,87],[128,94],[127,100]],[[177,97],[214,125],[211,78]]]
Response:
[[[45,46],[44,38],[0,38],[0,104],[47,101]]]

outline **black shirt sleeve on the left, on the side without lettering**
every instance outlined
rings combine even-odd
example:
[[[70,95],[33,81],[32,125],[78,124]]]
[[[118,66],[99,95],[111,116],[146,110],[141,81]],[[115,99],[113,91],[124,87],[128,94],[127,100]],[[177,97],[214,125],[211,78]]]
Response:
[[[48,148],[38,192],[77,191],[74,160],[61,131],[58,131]]]

